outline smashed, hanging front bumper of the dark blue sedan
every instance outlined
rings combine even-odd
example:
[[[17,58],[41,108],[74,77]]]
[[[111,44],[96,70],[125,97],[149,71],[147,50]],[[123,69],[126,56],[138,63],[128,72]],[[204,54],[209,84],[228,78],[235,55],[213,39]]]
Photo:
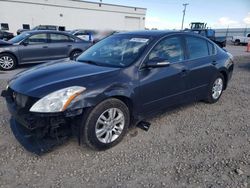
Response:
[[[38,100],[8,89],[5,97],[11,114],[10,127],[20,144],[37,155],[49,152],[72,135],[79,134],[78,119],[82,109],[61,113],[34,113],[30,107]]]

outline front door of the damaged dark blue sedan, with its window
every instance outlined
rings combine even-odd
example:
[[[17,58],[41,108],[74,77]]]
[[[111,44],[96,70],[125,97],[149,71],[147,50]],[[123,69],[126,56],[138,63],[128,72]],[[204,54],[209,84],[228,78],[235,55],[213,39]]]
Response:
[[[166,67],[145,67],[139,71],[141,110],[144,113],[181,102],[182,93],[186,90],[183,39],[173,36],[161,40],[149,53],[144,64],[155,58],[170,64]]]

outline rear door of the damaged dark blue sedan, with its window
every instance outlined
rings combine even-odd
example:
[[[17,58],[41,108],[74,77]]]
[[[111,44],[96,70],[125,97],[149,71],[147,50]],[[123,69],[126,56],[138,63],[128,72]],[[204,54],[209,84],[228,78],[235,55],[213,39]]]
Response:
[[[214,44],[196,36],[186,36],[185,41],[187,49],[185,66],[189,71],[186,85],[188,97],[204,97],[208,84],[217,73]]]

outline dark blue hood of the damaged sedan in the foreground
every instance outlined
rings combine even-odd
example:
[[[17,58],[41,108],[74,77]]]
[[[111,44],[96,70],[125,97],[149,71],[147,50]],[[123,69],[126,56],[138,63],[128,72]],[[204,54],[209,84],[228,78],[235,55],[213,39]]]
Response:
[[[119,72],[119,68],[103,67],[75,61],[55,61],[45,63],[13,77],[9,87],[14,91],[42,98],[56,90],[70,87],[93,87],[98,81],[110,78]]]

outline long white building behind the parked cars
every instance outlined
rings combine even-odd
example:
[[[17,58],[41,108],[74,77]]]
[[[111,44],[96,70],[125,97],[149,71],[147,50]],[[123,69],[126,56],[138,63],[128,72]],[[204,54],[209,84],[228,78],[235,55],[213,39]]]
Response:
[[[72,29],[141,30],[146,9],[81,0],[0,0],[2,29],[56,25]],[[26,25],[27,24],[27,25]]]

